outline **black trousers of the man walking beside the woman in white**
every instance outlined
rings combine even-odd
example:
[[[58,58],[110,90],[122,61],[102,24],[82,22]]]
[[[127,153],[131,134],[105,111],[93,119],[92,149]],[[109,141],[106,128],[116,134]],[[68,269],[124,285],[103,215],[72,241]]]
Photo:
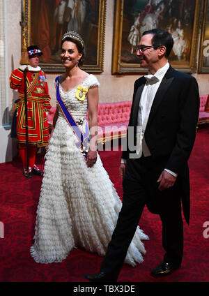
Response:
[[[153,159],[152,156],[142,156],[127,160],[123,206],[101,265],[102,272],[118,276],[145,205],[150,212],[160,215],[164,260],[180,265],[183,258],[183,220],[178,178],[172,188],[164,191],[158,190],[157,183],[166,163],[167,157]]]

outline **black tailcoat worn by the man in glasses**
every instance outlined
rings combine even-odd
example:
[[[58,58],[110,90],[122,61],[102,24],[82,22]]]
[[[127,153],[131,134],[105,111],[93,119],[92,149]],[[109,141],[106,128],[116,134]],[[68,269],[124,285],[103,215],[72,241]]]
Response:
[[[146,84],[144,77],[134,83],[134,95],[129,126],[134,126],[136,144],[137,117],[141,92]],[[189,169],[188,158],[191,154],[199,117],[199,87],[192,75],[174,70],[171,66],[157,89],[144,138],[153,158],[167,156],[165,168],[178,174],[180,195],[185,220],[189,223]],[[130,151],[127,129],[127,150],[122,158],[129,158]]]

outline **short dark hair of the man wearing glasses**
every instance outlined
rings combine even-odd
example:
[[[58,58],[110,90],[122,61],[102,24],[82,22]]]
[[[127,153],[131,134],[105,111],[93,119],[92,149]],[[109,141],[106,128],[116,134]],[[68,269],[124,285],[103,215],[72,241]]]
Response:
[[[173,47],[173,37],[171,34],[167,31],[164,31],[163,29],[152,29],[148,31],[144,31],[142,36],[152,34],[153,39],[152,39],[152,45],[155,50],[157,50],[158,47],[160,46],[165,46],[167,47],[165,57],[169,57],[169,54],[172,50]]]

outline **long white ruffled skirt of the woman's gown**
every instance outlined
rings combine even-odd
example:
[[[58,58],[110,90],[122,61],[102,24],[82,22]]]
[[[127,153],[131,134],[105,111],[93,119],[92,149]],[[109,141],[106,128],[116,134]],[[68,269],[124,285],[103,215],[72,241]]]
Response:
[[[61,262],[78,246],[104,256],[116,225],[122,202],[100,156],[87,168],[76,142],[70,126],[59,120],[47,151],[31,246],[36,262]],[[143,261],[143,239],[148,237],[138,227],[126,263]]]

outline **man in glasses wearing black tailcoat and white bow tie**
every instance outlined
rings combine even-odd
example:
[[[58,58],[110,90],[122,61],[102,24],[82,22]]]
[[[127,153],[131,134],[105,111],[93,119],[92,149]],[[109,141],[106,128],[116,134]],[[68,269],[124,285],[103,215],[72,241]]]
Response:
[[[166,276],[181,265],[181,205],[189,223],[187,161],[199,117],[199,88],[192,75],[169,65],[172,47],[171,34],[162,29],[146,31],[141,37],[137,55],[149,74],[134,84],[127,149],[120,167],[123,207],[100,272],[87,275],[89,281],[117,280],[145,205],[160,215],[165,251],[151,275]]]

